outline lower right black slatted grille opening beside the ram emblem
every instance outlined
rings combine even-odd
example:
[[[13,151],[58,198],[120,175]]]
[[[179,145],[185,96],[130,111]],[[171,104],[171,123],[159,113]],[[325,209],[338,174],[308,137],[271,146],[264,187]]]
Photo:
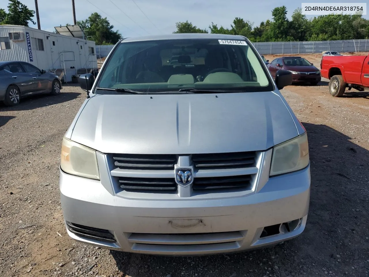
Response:
[[[250,187],[251,175],[195,178],[193,189],[237,189]]]

